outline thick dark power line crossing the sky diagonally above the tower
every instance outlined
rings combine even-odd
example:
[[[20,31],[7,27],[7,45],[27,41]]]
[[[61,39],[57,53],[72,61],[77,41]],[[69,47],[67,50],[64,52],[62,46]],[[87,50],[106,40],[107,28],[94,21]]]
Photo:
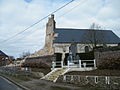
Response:
[[[65,5],[61,6],[61,7],[58,8],[58,9],[56,9],[55,11],[51,12],[51,13],[48,14],[47,16],[45,16],[45,17],[43,17],[42,19],[38,20],[38,21],[35,22],[34,24],[30,25],[29,27],[27,27],[27,28],[24,29],[23,31],[21,31],[21,32],[19,32],[19,33],[13,35],[13,36],[11,36],[11,37],[9,37],[9,38],[6,39],[6,40],[3,40],[1,43],[5,43],[5,42],[11,40],[12,38],[18,36],[19,34],[25,32],[26,30],[28,30],[28,29],[30,29],[31,27],[33,27],[33,26],[35,26],[36,24],[38,24],[39,22],[41,22],[41,21],[43,21],[44,19],[48,18],[51,14],[54,14],[54,13],[58,12],[59,10],[61,10],[62,8],[66,7],[67,5],[69,5],[70,3],[72,3],[73,1],[75,1],[75,0],[71,0],[70,2],[66,3]]]

